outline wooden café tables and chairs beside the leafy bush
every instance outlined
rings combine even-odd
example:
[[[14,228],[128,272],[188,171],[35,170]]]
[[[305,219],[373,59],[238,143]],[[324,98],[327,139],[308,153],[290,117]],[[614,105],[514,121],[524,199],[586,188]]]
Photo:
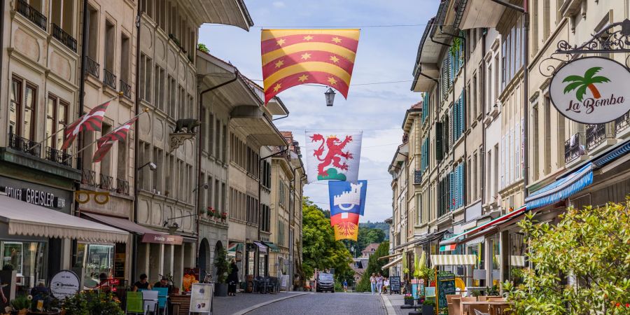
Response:
[[[447,295],[449,315],[512,315],[512,302],[500,296]]]

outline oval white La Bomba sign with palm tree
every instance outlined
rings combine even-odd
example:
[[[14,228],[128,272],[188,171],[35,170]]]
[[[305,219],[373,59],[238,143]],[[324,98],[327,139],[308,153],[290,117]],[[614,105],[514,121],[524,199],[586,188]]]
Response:
[[[608,58],[576,59],[556,71],[549,96],[570,120],[608,123],[630,111],[630,71]]]

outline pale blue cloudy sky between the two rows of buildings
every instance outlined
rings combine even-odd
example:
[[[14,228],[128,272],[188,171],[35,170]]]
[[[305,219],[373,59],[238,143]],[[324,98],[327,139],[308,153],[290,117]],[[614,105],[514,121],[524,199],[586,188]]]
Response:
[[[200,43],[232,62],[253,80],[262,79],[260,28],[357,28],[361,34],[348,99],[337,93],[325,106],[325,87],[301,85],[278,94],[290,115],[277,120],[304,146],[304,130],[363,130],[359,179],[367,179],[367,204],[360,222],[383,221],[392,214],[391,176],[387,167],[402,139],[405,111],[420,100],[409,91],[424,25],[435,15],[437,0],[246,0],[254,27],[203,25]],[[412,27],[371,27],[418,25]],[[354,85],[407,81],[401,83]],[[262,85],[261,81],[257,81]],[[304,149],[302,149],[304,153]],[[305,160],[305,157],[304,157]],[[319,181],[304,189],[319,207],[329,209],[328,185]]]

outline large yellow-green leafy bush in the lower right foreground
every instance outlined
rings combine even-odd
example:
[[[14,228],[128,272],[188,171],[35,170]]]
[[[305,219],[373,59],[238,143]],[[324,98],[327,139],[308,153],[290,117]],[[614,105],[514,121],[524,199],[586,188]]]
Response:
[[[569,208],[558,225],[528,214],[531,238],[523,283],[504,283],[517,314],[630,313],[630,200]]]

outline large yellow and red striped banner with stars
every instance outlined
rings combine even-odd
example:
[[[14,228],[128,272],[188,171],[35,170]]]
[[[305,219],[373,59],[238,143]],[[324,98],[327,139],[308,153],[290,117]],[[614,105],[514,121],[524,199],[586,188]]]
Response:
[[[348,97],[358,29],[263,29],[260,36],[265,104],[305,83],[328,85]]]

